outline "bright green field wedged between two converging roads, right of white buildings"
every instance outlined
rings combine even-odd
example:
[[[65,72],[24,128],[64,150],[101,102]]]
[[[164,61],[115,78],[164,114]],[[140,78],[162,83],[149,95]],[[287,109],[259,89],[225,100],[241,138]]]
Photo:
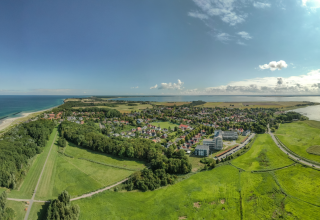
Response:
[[[275,169],[292,164],[273,142],[269,134],[259,134],[250,150],[232,161],[232,164],[246,171]]]

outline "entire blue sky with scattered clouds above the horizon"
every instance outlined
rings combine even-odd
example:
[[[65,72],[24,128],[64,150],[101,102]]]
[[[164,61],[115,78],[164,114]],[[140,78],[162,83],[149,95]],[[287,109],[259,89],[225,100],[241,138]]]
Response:
[[[0,95],[320,94],[320,0],[4,0],[0,30]]]

